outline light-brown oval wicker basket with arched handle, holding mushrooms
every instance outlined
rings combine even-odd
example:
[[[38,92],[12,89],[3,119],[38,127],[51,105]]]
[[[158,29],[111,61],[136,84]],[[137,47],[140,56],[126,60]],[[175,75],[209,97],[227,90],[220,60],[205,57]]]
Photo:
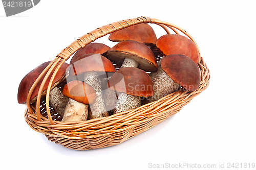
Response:
[[[114,22],[87,33],[62,50],[61,53],[59,53],[46,67],[31,87],[28,99],[30,99],[38,80],[43,78],[43,75],[45,75],[44,80],[41,83],[42,87],[43,84],[45,84],[45,80],[47,80],[51,72],[53,72],[46,98],[37,98],[37,101],[34,104],[29,104],[29,102],[27,102],[27,109],[25,112],[25,120],[27,124],[33,130],[44,134],[48,140],[61,144],[66,148],[74,150],[90,150],[110,147],[112,145],[122,143],[123,141],[163,122],[168,117],[179,112],[183,106],[188,104],[193,98],[195,98],[195,96],[208,87],[210,73],[203,58],[201,57],[201,62],[198,63],[198,67],[201,71],[201,82],[199,89],[196,91],[181,89],[164,96],[158,101],[142,105],[134,110],[117,113],[108,117],[80,122],[60,122],[60,116],[49,104],[49,92],[52,86],[52,80],[54,79],[59,67],[77,50],[95,41],[97,38],[139,23],[155,23],[156,25],[161,26],[167,34],[170,34],[169,29],[173,30],[176,34],[179,34],[179,30],[195,42],[195,40],[183,29],[171,23],[148,17],[138,17]],[[58,66],[54,70],[56,65]],[[59,88],[61,88],[61,86],[63,86],[63,84],[60,84]],[[41,95],[41,92],[41,89],[39,89],[38,96]]]

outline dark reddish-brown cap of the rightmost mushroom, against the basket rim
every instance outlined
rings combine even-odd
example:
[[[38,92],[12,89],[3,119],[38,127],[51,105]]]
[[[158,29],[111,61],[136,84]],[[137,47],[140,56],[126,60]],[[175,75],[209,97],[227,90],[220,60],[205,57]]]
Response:
[[[197,64],[189,57],[173,54],[166,56],[161,61],[164,72],[176,83],[189,91],[197,90],[200,85],[201,75]]]

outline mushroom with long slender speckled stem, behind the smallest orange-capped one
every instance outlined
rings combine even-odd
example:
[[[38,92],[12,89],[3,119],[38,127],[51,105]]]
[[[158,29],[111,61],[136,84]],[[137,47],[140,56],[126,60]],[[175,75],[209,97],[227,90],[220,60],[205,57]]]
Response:
[[[88,115],[88,119],[89,117],[91,119],[109,116],[102,98],[102,89],[98,74],[100,74],[100,72],[115,71],[116,69],[111,61],[99,54],[82,58],[70,65],[69,77],[82,76],[83,81],[91,85],[96,91],[96,100],[90,105],[92,115]]]

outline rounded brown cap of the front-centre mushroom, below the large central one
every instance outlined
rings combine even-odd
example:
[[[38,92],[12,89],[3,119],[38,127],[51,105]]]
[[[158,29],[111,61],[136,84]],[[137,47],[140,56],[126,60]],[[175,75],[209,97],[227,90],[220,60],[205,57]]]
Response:
[[[150,76],[142,69],[124,67],[119,69],[109,80],[109,88],[135,96],[153,96],[153,84]]]

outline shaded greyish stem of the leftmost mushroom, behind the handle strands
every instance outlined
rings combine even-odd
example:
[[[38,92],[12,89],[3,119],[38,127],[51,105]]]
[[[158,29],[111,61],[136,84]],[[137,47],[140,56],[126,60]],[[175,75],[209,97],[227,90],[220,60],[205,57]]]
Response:
[[[58,87],[54,87],[49,94],[49,101],[57,111],[57,113],[63,117],[66,105],[69,102],[69,98],[64,96]]]

